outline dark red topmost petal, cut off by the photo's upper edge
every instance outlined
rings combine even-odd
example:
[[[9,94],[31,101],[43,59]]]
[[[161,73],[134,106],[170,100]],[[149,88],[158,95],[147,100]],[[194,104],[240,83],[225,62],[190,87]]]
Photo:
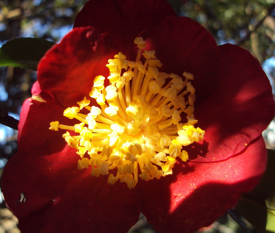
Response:
[[[164,0],[90,0],[77,15],[74,27],[93,26],[100,33],[110,32],[129,57],[134,39],[169,16],[176,13]]]

